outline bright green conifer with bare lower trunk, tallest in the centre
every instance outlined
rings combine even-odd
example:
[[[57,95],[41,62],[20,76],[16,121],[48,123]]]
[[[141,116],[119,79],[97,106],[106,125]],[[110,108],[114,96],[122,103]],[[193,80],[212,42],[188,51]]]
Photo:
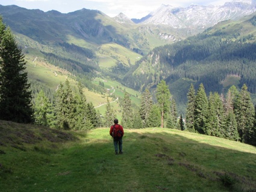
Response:
[[[164,80],[161,80],[157,85],[156,96],[161,110],[161,128],[163,128],[164,117],[167,117],[170,110],[170,90]]]

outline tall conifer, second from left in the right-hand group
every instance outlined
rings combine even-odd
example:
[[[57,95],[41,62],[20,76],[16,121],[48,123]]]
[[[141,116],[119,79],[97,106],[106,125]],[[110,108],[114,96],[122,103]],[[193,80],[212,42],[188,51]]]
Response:
[[[204,85],[200,84],[196,92],[194,128],[200,134],[204,134],[205,121],[207,116],[208,100],[205,94]]]

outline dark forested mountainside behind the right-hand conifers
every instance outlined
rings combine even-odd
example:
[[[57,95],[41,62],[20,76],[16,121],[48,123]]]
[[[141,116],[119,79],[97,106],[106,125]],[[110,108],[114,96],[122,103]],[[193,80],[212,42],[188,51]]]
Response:
[[[256,93],[255,34],[254,15],[238,22],[219,23],[197,36],[153,49],[123,81],[143,90],[154,88],[164,79],[180,104],[186,102],[190,83],[196,88],[203,83],[207,93],[225,93],[231,85],[241,88],[246,84],[250,93]],[[230,78],[233,81],[229,82]]]

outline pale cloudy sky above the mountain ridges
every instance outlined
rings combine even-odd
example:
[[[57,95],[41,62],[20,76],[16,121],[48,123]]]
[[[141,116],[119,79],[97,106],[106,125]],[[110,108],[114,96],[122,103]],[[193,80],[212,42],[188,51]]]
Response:
[[[82,8],[99,10],[110,17],[123,13],[131,19],[141,19],[162,4],[173,7],[188,7],[191,4],[223,5],[231,0],[0,0],[0,5],[17,5],[42,11],[57,10],[69,13]]]

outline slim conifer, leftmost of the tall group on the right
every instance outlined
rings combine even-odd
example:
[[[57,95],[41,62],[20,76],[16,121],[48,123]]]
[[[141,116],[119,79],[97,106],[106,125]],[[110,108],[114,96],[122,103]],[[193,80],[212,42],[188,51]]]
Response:
[[[194,113],[195,113],[196,91],[193,84],[190,85],[189,93],[187,93],[187,113],[186,127],[190,132],[195,132],[194,128]]]

